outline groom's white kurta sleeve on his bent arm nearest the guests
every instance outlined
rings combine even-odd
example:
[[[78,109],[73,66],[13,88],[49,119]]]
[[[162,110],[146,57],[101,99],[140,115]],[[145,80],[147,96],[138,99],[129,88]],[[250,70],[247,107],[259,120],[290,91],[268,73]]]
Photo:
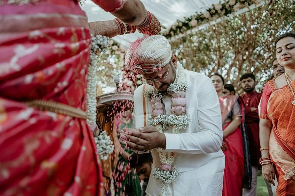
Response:
[[[207,154],[218,152],[221,149],[223,138],[221,111],[214,86],[208,77],[204,82],[195,85],[200,85],[196,108],[200,131],[197,133],[165,133],[167,152]]]

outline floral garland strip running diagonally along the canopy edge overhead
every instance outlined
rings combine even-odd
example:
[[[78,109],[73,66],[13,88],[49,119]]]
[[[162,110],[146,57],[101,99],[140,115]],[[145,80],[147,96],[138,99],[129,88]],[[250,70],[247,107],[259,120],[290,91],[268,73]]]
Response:
[[[249,7],[252,4],[260,4],[261,1],[262,0],[228,0],[223,3],[212,4],[212,7],[207,8],[204,13],[196,12],[196,14],[191,17],[184,17],[184,21],[177,20],[171,28],[162,34],[166,38],[171,38],[177,34],[185,33],[187,30],[194,27],[216,20],[219,17],[233,14],[244,7]]]

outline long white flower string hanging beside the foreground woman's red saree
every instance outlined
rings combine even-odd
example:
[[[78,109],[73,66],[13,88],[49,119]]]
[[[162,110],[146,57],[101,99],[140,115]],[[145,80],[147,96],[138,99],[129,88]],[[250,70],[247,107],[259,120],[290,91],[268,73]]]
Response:
[[[97,61],[98,56],[104,49],[108,47],[108,38],[102,35],[91,36],[90,61],[87,73],[87,123],[89,125],[96,124],[96,81],[97,81]]]

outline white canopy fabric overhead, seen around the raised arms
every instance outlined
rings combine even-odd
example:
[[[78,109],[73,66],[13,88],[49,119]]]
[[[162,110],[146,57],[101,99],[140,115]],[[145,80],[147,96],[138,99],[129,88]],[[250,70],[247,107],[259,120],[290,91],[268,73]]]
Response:
[[[189,17],[195,12],[205,12],[204,8],[211,7],[212,4],[219,3],[220,0],[141,0],[146,9],[153,13],[163,26],[170,28],[177,20],[183,20],[184,17]],[[224,0],[221,0],[224,2]],[[89,22],[113,20],[115,17],[105,12],[91,0],[86,0],[81,6],[86,12]],[[143,35],[139,32],[117,36],[115,41],[128,47],[131,42]]]

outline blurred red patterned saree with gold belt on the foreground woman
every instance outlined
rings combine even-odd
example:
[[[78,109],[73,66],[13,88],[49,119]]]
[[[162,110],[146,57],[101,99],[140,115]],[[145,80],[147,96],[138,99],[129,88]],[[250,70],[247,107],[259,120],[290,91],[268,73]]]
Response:
[[[0,195],[104,195],[84,112],[86,14],[77,0],[0,0],[0,19]],[[109,27],[99,30],[118,34]]]

